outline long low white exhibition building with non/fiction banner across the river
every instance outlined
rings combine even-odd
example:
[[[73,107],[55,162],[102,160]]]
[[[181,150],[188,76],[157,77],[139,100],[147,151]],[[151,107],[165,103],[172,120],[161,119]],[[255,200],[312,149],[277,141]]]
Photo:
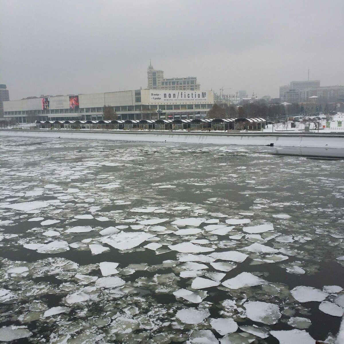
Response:
[[[213,91],[138,89],[121,92],[26,98],[4,102],[4,117],[33,120],[101,120],[104,105],[118,119],[204,118],[214,104]]]

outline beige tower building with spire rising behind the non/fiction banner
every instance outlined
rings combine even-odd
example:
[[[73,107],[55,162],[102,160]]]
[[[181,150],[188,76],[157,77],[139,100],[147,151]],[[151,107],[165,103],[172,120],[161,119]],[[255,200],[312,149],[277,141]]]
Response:
[[[152,64],[148,66],[148,88],[166,90],[191,90],[198,91],[201,85],[197,78],[188,76],[185,78],[164,78],[164,72],[154,69]]]

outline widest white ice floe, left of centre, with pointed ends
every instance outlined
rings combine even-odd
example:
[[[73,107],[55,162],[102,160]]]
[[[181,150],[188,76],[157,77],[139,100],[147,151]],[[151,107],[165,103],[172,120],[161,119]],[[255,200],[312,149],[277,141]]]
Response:
[[[99,241],[119,250],[128,250],[141,245],[144,241],[154,236],[153,234],[145,232],[120,232],[104,236],[100,238]]]

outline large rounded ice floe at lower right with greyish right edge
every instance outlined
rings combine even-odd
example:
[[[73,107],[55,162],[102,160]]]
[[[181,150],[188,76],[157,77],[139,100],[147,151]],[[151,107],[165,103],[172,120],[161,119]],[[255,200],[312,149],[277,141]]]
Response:
[[[269,302],[248,301],[244,307],[248,319],[267,325],[276,324],[282,316],[278,305]]]

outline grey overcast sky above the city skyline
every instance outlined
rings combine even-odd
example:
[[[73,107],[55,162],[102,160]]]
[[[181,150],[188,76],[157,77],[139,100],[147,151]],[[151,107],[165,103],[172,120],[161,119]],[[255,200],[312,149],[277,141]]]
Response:
[[[149,59],[202,89],[344,84],[344,1],[0,0],[10,99],[147,87]],[[232,89],[229,89],[232,88]]]

